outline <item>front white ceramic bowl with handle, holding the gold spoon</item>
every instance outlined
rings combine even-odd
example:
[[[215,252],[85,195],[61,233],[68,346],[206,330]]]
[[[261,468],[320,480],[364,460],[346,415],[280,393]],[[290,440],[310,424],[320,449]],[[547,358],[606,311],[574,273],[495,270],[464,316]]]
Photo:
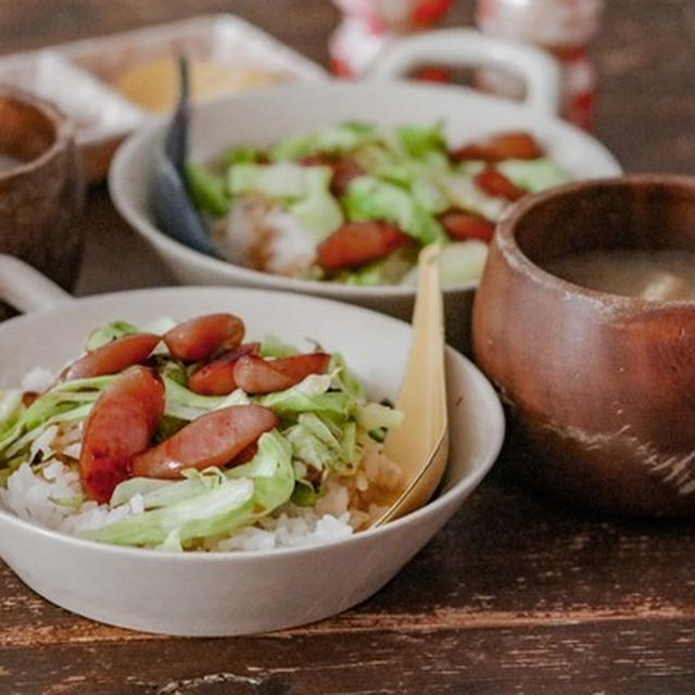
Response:
[[[21,288],[21,289],[17,289]],[[59,367],[91,328],[122,318],[231,311],[249,334],[306,337],[340,350],[372,394],[395,397],[410,328],[364,308],[316,298],[227,288],[139,290],[72,300],[0,256],[0,298],[37,311],[0,325],[0,384],[36,365]],[[56,301],[58,300],[58,301]],[[38,338],[42,337],[42,338]],[[456,511],[492,466],[504,435],[485,378],[448,349],[451,458],[435,500],[339,542],[258,553],[177,554],[79,540],[0,510],[0,556],[31,589],[74,612],[115,626],[178,635],[232,635],[319,620],[386,584]]]

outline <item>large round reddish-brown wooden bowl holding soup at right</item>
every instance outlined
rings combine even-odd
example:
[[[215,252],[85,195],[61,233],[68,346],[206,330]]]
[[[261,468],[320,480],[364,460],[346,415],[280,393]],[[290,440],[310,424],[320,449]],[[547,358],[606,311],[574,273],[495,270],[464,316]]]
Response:
[[[571,184],[501,223],[473,351],[532,456],[527,478],[582,506],[695,513],[695,302],[592,291],[542,269],[592,249],[695,251],[695,178]]]

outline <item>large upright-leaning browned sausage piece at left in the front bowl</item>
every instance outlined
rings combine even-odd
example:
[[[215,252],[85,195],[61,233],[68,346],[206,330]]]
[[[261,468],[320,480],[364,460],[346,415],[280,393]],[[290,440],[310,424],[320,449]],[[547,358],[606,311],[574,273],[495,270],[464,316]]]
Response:
[[[109,502],[131,475],[134,454],[146,450],[164,413],[161,378],[131,367],[97,399],[86,422],[79,475],[88,497]]]

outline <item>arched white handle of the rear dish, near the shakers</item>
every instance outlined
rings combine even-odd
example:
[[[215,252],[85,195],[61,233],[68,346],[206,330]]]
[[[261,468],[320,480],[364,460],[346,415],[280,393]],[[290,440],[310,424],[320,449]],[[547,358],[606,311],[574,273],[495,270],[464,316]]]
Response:
[[[501,67],[526,83],[526,104],[544,114],[557,114],[561,75],[545,51],[473,29],[439,29],[400,39],[379,56],[368,77],[402,77],[424,62],[462,67]]]

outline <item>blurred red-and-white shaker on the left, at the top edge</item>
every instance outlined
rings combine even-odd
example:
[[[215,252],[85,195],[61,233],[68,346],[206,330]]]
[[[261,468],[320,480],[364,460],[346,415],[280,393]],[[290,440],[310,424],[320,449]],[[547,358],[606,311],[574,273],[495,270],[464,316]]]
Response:
[[[344,17],[329,39],[331,70],[361,77],[377,55],[400,36],[434,26],[452,0],[333,0]],[[441,79],[440,72],[422,77]]]

